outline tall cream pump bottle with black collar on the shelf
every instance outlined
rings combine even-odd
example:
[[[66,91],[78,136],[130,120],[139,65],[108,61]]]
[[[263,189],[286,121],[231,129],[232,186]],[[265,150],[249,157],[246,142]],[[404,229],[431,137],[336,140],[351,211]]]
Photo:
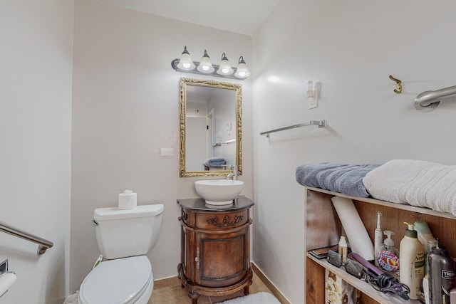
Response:
[[[420,286],[425,276],[425,250],[423,244],[418,241],[418,234],[413,224],[404,222],[408,226],[405,229],[405,236],[400,241],[399,260],[400,274],[399,281],[410,288],[408,296],[412,300],[418,300]]]

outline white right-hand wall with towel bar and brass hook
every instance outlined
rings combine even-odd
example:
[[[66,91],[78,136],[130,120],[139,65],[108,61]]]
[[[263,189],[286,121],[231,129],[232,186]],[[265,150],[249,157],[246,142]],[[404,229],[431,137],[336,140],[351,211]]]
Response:
[[[454,1],[282,0],[253,37],[253,260],[304,303],[304,187],[295,169],[423,159],[455,164],[456,100],[418,112],[413,98],[456,85]],[[393,75],[403,93],[393,93]],[[321,81],[307,109],[308,80]],[[309,120],[328,127],[259,132]]]

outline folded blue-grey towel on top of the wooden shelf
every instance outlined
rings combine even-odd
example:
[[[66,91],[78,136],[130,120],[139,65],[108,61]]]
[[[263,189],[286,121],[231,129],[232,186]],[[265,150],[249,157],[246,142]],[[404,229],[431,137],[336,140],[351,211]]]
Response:
[[[296,181],[303,186],[368,197],[370,195],[364,187],[363,177],[378,166],[380,164],[303,164],[296,168]]]

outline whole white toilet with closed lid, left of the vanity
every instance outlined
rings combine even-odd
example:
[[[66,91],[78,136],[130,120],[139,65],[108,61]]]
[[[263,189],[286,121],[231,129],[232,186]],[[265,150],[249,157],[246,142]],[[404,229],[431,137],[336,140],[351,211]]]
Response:
[[[162,204],[93,211],[95,236],[103,258],[84,278],[79,304],[147,304],[154,278],[145,256],[160,234]]]

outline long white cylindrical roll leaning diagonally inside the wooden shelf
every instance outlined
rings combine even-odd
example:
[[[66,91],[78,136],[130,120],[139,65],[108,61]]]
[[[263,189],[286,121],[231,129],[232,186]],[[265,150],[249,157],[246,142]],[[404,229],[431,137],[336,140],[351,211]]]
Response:
[[[343,230],[347,234],[348,241],[350,241],[351,251],[358,253],[366,261],[374,260],[373,243],[369,239],[368,232],[353,201],[339,196],[334,196],[331,201],[333,201],[334,208],[339,219],[341,219]]]

